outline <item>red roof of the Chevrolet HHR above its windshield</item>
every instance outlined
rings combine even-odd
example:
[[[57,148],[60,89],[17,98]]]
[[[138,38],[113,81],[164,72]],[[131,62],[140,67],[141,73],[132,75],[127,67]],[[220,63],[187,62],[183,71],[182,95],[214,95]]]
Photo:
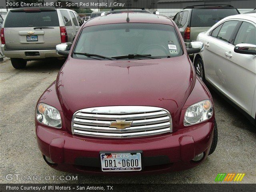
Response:
[[[98,16],[88,20],[84,27],[102,24],[126,23],[127,13],[108,14],[106,16]],[[172,20],[166,16],[156,15],[152,13],[129,13],[130,23],[156,23],[174,25]]]

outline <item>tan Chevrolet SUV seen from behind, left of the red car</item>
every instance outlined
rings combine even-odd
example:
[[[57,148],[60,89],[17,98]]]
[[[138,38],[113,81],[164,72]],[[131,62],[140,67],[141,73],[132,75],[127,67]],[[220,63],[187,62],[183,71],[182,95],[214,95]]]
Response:
[[[81,25],[78,14],[69,9],[12,9],[1,29],[1,49],[14,68],[24,68],[28,60],[58,57],[56,45],[71,44]]]

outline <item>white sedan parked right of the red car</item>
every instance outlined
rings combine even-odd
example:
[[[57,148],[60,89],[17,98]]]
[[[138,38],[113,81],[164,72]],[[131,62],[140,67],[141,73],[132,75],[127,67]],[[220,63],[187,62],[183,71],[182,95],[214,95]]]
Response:
[[[196,74],[256,124],[256,13],[228,16],[198,35]]]

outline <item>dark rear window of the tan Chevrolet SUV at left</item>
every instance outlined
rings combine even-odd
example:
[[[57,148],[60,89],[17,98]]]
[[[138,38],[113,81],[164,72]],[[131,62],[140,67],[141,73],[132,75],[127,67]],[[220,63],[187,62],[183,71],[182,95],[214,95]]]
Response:
[[[40,10],[33,12],[10,11],[6,17],[4,27],[54,27],[59,26],[56,10]]]

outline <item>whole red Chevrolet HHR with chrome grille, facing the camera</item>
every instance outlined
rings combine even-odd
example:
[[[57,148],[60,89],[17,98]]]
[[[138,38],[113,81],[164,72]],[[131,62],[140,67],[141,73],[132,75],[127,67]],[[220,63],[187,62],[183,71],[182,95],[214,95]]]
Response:
[[[65,38],[66,34],[62,34]],[[176,24],[158,12],[103,13],[74,43],[36,106],[46,163],[66,172],[163,173],[212,154],[218,133],[212,96],[197,78]]]

